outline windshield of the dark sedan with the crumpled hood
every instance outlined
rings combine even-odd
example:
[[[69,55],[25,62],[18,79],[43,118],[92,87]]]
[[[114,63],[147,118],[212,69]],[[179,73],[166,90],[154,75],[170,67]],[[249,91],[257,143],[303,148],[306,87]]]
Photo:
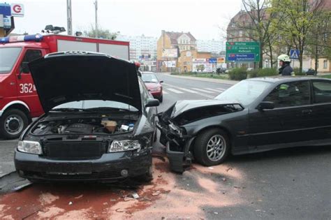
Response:
[[[270,82],[262,82],[257,80],[244,80],[238,82],[233,87],[223,91],[216,99],[224,101],[237,101],[238,103],[247,106],[253,103],[260,96]]]

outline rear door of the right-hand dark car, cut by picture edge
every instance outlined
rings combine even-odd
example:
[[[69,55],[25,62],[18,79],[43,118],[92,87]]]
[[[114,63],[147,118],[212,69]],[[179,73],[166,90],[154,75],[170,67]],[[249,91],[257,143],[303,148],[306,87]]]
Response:
[[[314,140],[331,138],[331,80],[311,80],[313,93]]]

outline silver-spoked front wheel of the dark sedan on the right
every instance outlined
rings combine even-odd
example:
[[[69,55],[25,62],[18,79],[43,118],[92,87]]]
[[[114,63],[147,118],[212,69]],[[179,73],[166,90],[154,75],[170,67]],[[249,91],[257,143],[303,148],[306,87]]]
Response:
[[[209,129],[196,138],[194,157],[203,166],[222,163],[230,149],[228,135],[221,129]]]

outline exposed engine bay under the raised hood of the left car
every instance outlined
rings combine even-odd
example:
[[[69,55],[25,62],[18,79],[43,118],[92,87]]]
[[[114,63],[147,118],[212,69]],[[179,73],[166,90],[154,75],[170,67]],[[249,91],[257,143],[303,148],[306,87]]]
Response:
[[[92,118],[40,122],[31,129],[34,135],[118,134],[133,131],[135,122],[126,119]]]

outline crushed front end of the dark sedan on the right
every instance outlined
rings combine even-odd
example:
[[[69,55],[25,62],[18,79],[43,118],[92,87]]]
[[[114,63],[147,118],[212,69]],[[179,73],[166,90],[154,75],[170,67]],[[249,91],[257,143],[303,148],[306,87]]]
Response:
[[[191,165],[191,152],[198,133],[212,126],[221,126],[223,115],[244,110],[239,103],[217,100],[177,101],[159,113],[160,142],[166,146],[170,169],[183,173]],[[224,117],[226,119],[226,117]]]

